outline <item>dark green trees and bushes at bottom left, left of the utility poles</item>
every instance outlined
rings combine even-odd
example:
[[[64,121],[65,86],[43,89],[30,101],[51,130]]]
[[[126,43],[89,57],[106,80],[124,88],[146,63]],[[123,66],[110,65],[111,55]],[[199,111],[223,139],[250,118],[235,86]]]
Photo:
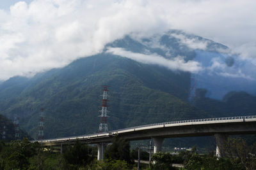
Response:
[[[114,147],[115,146],[115,147]],[[64,147],[65,148],[65,147]],[[95,149],[95,148],[94,148]],[[44,148],[39,143],[30,143],[28,138],[22,141],[0,143],[0,169],[132,169],[134,165],[129,157],[129,142],[115,140],[106,151],[104,161],[97,161],[93,148],[78,141],[64,149],[62,155],[53,148]],[[124,150],[124,152],[122,152]],[[117,152],[117,153],[115,153]],[[125,155],[127,154],[127,155]]]

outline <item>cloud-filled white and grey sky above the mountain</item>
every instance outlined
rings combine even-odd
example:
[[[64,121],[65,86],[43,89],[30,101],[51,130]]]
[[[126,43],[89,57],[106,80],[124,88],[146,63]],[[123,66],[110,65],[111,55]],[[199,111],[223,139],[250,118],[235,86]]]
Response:
[[[152,36],[169,29],[212,39],[255,61],[255,9],[255,0],[0,0],[0,80],[66,66],[127,34]],[[152,62],[159,56],[148,57]],[[180,57],[156,64],[175,63],[193,66],[185,71],[198,68]]]

